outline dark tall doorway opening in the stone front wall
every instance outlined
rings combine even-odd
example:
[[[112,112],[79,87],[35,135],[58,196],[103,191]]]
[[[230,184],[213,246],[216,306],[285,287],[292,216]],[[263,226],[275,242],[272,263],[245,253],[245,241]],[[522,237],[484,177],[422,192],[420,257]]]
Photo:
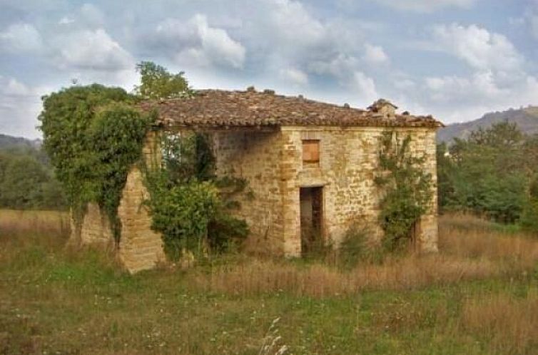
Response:
[[[308,254],[323,244],[323,187],[300,188],[301,252]]]

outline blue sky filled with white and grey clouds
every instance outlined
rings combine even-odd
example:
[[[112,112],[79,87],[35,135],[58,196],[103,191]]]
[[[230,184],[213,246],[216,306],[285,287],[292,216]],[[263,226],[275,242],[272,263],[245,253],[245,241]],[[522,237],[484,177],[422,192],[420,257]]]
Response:
[[[0,133],[39,138],[41,96],[136,63],[195,89],[255,86],[462,122],[538,105],[538,0],[0,0]]]

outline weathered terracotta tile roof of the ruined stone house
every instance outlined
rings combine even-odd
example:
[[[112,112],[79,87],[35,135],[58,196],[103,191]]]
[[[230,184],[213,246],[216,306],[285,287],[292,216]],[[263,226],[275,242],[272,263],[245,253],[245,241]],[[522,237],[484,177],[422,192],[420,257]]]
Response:
[[[193,98],[145,101],[143,110],[158,110],[164,126],[230,128],[285,125],[442,127],[432,116],[409,114],[387,117],[372,110],[337,106],[273,91],[197,91]]]

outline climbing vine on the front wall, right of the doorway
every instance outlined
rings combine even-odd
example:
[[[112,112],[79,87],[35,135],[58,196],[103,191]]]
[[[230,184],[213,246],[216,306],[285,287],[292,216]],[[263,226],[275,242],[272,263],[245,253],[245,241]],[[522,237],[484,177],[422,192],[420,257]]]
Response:
[[[396,132],[384,133],[378,153],[380,171],[375,183],[384,194],[379,215],[385,232],[382,245],[391,251],[410,239],[413,225],[432,199],[432,176],[420,168],[425,158],[410,153],[410,142],[410,135],[400,138]]]

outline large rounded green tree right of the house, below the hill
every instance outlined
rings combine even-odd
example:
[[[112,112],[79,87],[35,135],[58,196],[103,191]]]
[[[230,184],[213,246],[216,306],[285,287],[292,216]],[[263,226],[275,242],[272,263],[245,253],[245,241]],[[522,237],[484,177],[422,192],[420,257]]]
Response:
[[[479,128],[466,140],[456,139],[450,160],[440,160],[445,206],[487,215],[499,222],[519,219],[529,173],[525,136],[507,122]],[[446,185],[443,186],[447,187]]]

